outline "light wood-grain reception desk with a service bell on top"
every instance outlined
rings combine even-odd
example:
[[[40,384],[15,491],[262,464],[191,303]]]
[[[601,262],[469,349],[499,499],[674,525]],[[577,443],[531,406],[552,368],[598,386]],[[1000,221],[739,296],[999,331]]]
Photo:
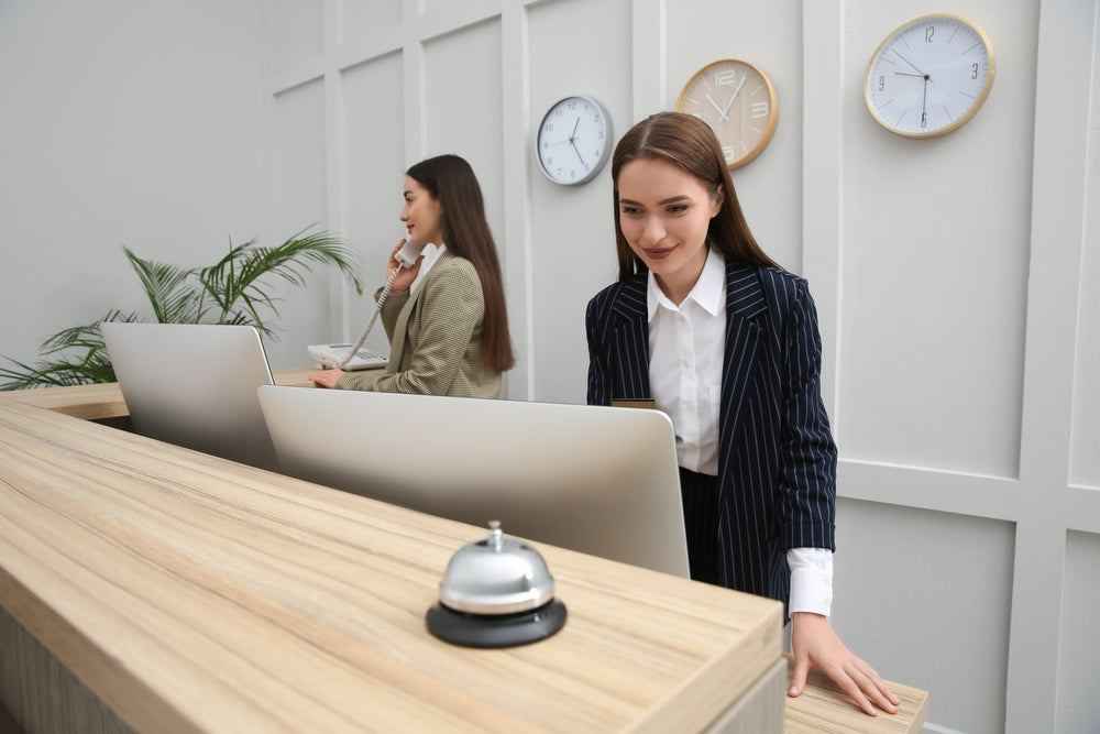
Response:
[[[787,699],[778,603],[549,546],[560,633],[448,645],[425,613],[483,528],[103,425],[125,416],[113,385],[0,394],[0,694],[28,731],[919,731],[927,713],[903,686],[877,719],[820,679]]]

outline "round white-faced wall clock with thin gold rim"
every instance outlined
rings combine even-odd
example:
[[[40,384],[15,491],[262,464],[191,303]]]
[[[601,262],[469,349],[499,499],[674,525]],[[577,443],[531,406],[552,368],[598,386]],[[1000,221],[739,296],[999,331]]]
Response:
[[[867,67],[867,108],[891,132],[934,138],[961,127],[993,84],[993,51],[977,25],[925,15],[902,25]]]

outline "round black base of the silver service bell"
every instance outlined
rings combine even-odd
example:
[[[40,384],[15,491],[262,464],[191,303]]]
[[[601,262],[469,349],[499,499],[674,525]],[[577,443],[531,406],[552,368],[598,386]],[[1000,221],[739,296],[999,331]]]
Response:
[[[514,647],[537,643],[565,626],[565,605],[553,600],[515,614],[468,614],[437,603],[428,610],[428,631],[463,647]]]

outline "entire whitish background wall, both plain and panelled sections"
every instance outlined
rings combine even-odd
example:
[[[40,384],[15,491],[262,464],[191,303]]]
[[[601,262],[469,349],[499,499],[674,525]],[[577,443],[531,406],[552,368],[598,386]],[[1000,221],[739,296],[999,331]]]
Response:
[[[779,127],[735,184],[817,300],[842,458],[834,625],[931,691],[928,731],[1100,731],[1097,0],[155,7],[0,3],[0,91],[23,110],[0,141],[0,353],[29,359],[130,297],[121,242],[205,262],[229,235],[318,221],[378,281],[404,169],[457,152],[505,264],[509,397],[583,402],[584,303],[615,276],[609,172],[550,184],[531,132],[582,92],[618,135],[704,64],[751,61]],[[990,36],[992,94],[963,129],[903,140],[867,112],[864,70],[895,26],[945,10]],[[275,366],[370,313],[330,275],[288,298]]]

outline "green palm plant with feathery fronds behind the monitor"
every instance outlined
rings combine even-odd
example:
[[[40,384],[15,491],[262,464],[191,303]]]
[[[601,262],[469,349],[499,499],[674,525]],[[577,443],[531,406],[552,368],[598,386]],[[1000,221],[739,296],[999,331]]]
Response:
[[[362,273],[348,242],[327,232],[307,234],[308,229],[275,247],[260,245],[255,239],[238,245],[230,241],[226,256],[208,267],[144,260],[127,247],[122,252],[157,322],[246,324],[277,339],[272,319],[278,317],[280,299],[271,292],[272,281],[304,286],[314,265],[333,266],[363,294]],[[0,368],[0,380],[7,380],[0,390],[114,382],[99,325],[140,320],[136,313],[111,309],[97,321],[47,337],[33,365],[4,358],[12,366]]]

